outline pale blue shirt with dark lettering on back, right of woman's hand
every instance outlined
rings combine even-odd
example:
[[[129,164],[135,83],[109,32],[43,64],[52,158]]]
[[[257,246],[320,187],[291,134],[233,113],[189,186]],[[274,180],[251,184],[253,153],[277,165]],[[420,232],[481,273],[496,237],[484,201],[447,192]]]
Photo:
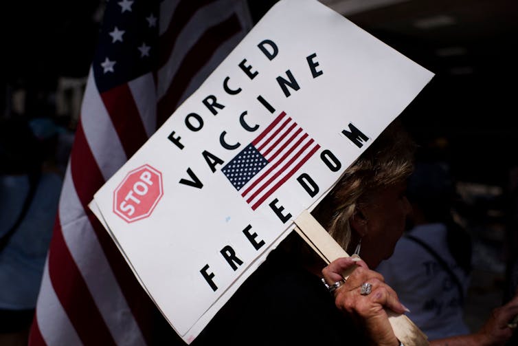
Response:
[[[456,264],[448,250],[444,224],[425,224],[411,231],[424,241],[457,275],[466,296],[469,277]],[[433,255],[415,241],[402,237],[394,255],[376,268],[410,312],[407,316],[427,334],[429,340],[469,334],[457,285]]]

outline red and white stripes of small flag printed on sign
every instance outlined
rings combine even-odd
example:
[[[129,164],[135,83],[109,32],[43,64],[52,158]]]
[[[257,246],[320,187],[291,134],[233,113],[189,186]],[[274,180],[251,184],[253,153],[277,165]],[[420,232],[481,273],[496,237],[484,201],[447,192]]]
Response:
[[[283,111],[252,142],[269,162],[245,186],[241,195],[256,210],[320,148],[300,126]]]

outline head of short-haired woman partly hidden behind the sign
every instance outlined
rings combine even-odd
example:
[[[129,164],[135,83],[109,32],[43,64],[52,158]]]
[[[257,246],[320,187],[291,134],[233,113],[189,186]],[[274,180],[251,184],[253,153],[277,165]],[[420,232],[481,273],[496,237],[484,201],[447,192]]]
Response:
[[[405,197],[415,144],[393,122],[348,167],[313,214],[351,252],[361,239],[361,257],[377,266],[390,257],[411,211]]]

